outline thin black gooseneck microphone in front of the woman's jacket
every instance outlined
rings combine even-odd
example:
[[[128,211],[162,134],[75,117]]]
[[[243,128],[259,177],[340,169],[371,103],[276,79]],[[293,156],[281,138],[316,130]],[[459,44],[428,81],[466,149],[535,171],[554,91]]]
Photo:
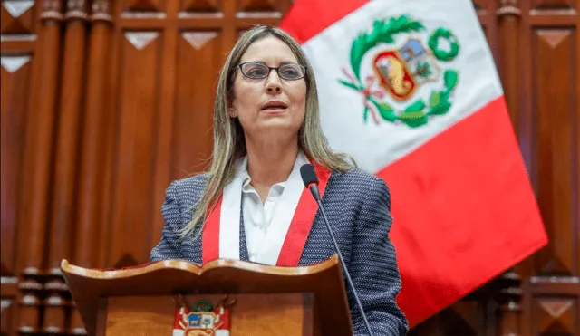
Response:
[[[326,218],[326,214],[324,213],[323,203],[320,200],[320,192],[318,191],[318,178],[316,177],[316,173],[314,172],[314,167],[311,164],[307,163],[300,167],[300,176],[302,177],[302,181],[304,182],[304,186],[310,189],[310,193],[316,200],[318,204],[318,208],[320,212],[323,214],[324,224],[326,224],[326,229],[328,229],[328,234],[333,239],[334,250],[338,254],[338,258],[343,265],[344,274],[346,274],[346,282],[353,290],[354,301],[356,305],[359,307],[359,311],[361,311],[362,321],[364,321],[364,325],[366,326],[366,330],[369,331],[369,335],[373,336],[371,326],[369,325],[369,321],[366,318],[366,314],[362,309],[361,300],[359,299],[359,294],[356,293],[356,289],[353,285],[353,280],[351,280],[351,274],[348,273],[348,268],[346,268],[346,264],[344,263],[343,254],[341,254],[341,249],[338,247],[338,243],[336,243],[336,238],[334,238],[333,229],[328,223],[328,218]]]

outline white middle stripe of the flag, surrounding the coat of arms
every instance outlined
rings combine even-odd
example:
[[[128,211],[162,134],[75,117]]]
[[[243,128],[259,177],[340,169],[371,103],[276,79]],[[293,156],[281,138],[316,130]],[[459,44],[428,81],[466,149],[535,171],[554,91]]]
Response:
[[[444,27],[459,41],[458,57],[451,62],[437,63],[441,73],[447,69],[459,72],[459,84],[450,99],[451,109],[444,115],[430,117],[426,125],[417,128],[398,121],[393,123],[381,120],[379,124],[375,124],[371,114],[364,122],[362,92],[339,82],[348,82],[343,69],[353,73],[350,51],[356,37],[362,33],[371,34],[375,20],[388,21],[391,17],[403,14],[420,21],[426,29],[423,32],[397,35],[395,43],[379,43],[365,53],[360,76],[363,85],[365,78],[374,74],[373,57],[379,52],[400,48],[409,38],[418,38],[427,46],[430,34],[437,28]],[[440,48],[449,50],[444,41],[440,39]],[[485,35],[480,29],[471,3],[465,0],[375,0],[314,36],[303,47],[313,63],[316,82],[319,83],[321,118],[324,133],[331,146],[335,150],[353,155],[360,168],[371,172],[404,157],[451,125],[503,95]],[[385,91],[376,80],[372,87]],[[406,105],[419,98],[428,102],[430,92],[442,88],[444,84],[441,74],[437,82],[420,85],[419,90],[406,101],[398,102],[390,97],[386,100],[396,110],[404,110]]]

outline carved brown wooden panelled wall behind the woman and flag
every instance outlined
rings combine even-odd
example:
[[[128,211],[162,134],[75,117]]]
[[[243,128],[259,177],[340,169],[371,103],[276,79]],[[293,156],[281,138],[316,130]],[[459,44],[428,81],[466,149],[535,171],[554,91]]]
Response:
[[[82,333],[59,263],[146,262],[218,69],[291,0],[5,0],[0,334]],[[550,245],[412,335],[580,335],[580,1],[478,0]],[[492,261],[490,261],[492,262]]]

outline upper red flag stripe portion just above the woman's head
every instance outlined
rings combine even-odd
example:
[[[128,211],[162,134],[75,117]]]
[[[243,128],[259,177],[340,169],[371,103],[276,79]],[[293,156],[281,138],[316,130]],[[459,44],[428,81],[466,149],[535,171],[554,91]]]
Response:
[[[369,0],[296,0],[279,27],[302,44],[368,2]]]

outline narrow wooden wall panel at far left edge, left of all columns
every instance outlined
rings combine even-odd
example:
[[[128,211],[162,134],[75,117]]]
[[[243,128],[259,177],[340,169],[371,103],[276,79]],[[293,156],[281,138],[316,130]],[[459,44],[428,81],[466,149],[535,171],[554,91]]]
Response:
[[[3,20],[4,21],[4,20]],[[6,20],[7,21],[7,20]],[[2,252],[0,260],[0,305],[2,315],[1,334],[12,330],[11,323],[16,312],[18,293],[17,237],[19,229],[18,209],[22,204],[22,182],[24,179],[24,145],[28,117],[28,97],[32,82],[33,55],[31,53],[9,54],[0,57],[2,81],[0,82],[2,120],[0,136],[0,175],[2,184]]]

